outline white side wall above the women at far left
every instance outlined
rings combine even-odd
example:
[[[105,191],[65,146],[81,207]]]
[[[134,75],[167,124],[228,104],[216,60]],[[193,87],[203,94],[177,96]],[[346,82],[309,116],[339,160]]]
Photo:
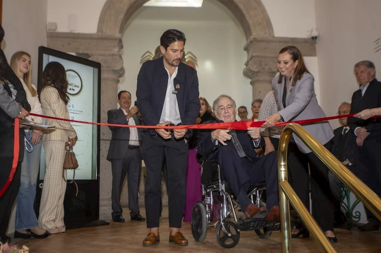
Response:
[[[3,0],[2,26],[5,37],[1,45],[2,49],[8,62],[17,51],[26,51],[31,55],[32,79],[36,86],[38,47],[46,46],[46,1]],[[13,208],[8,227],[9,233],[14,231],[15,214],[16,208]]]

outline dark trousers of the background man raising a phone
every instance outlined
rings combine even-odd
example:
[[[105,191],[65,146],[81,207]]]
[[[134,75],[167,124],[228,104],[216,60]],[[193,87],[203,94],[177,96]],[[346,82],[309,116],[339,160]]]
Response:
[[[138,202],[139,180],[142,169],[142,157],[139,149],[128,149],[122,159],[112,159],[112,218],[122,215],[120,206],[120,194],[122,193],[123,181],[127,175],[128,208],[131,218],[140,214]]]

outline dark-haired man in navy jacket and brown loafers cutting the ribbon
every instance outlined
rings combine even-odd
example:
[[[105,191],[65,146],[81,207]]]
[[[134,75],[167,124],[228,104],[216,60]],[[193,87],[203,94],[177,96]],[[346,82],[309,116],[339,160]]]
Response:
[[[181,62],[185,35],[167,30],[160,38],[163,57],[143,63],[136,89],[142,125],[176,126],[196,123],[201,108],[199,80],[194,68]],[[146,164],[145,202],[149,234],[144,246],[160,241],[159,212],[163,158],[168,168],[169,241],[188,245],[179,232],[185,208],[187,139],[192,131],[168,129],[142,130],[142,157]]]

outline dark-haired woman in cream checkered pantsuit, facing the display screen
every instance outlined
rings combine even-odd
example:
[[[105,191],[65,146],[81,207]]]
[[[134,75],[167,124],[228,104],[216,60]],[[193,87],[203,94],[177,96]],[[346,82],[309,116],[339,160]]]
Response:
[[[40,100],[44,115],[69,119],[67,80],[64,66],[58,62],[46,65],[42,74]],[[65,232],[64,197],[66,182],[62,178],[65,145],[77,141],[77,133],[70,122],[45,119],[46,125],[56,126],[45,131],[42,142],[45,150],[46,173],[40,202],[38,223],[51,234]],[[65,174],[66,177],[66,174]]]

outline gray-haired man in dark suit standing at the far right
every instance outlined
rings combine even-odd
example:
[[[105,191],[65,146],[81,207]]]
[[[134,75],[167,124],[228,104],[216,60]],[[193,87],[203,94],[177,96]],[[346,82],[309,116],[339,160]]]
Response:
[[[360,89],[352,95],[351,114],[364,109],[381,107],[381,82],[376,79],[376,67],[368,60],[358,62],[354,66]],[[359,160],[366,168],[364,183],[381,196],[381,119],[370,118],[362,120],[349,118],[349,126],[356,136]],[[367,209],[368,223],[360,226],[362,231],[377,230],[380,221]]]

